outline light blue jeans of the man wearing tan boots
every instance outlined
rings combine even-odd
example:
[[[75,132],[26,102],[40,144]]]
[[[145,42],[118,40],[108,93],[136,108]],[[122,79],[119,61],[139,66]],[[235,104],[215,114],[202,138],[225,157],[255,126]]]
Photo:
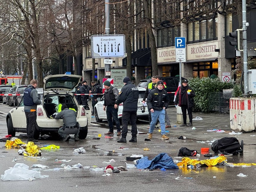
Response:
[[[157,111],[154,110],[154,113],[151,112],[151,123],[149,127],[149,133],[153,133],[155,129],[155,123],[157,122],[157,119],[159,119],[160,126],[161,126],[161,135],[166,135],[165,134],[165,110]]]

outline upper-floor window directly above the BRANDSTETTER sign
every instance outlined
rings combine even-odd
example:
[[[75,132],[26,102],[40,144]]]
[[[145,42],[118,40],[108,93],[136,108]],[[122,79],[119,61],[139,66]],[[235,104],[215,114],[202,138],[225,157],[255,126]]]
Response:
[[[209,20],[190,22],[187,24],[188,43],[211,41],[217,39],[217,17]]]

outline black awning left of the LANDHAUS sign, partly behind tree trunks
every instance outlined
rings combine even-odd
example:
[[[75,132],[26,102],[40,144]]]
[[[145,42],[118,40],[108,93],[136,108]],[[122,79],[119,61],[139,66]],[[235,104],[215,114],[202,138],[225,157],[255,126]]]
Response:
[[[127,57],[123,58],[123,67],[126,67]],[[139,49],[132,53],[132,67],[135,66],[151,66],[151,50],[150,48]]]

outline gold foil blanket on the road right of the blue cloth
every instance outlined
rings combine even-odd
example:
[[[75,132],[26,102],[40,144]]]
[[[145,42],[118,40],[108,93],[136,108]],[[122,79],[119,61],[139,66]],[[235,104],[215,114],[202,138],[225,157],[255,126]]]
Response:
[[[177,166],[188,166],[188,165],[193,165],[195,166],[196,164],[205,164],[207,166],[215,166],[217,163],[221,163],[223,161],[226,161],[225,156],[219,156],[216,159],[206,159],[206,160],[197,160],[197,159],[190,159],[189,157],[184,157],[182,158],[182,162],[177,163]]]

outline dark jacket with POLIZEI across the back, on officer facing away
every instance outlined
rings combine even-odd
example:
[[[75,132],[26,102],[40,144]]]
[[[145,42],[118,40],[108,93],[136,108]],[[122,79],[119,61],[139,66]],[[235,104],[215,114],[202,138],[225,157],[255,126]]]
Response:
[[[132,84],[131,81],[128,81],[121,89],[118,98],[117,104],[123,103],[123,111],[137,111],[138,109],[138,100],[139,100],[139,90]]]

